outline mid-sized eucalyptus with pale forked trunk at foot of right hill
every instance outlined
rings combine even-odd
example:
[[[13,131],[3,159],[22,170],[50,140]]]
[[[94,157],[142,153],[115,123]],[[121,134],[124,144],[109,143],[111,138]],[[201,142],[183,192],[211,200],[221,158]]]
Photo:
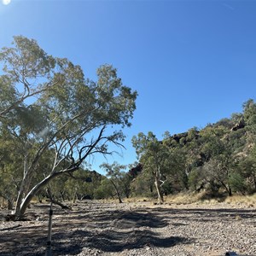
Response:
[[[136,148],[139,162],[143,165],[143,172],[148,172],[154,178],[154,185],[159,204],[164,202],[161,186],[165,183],[165,174],[169,170],[169,148],[160,142],[153,132],[148,135],[140,132],[132,137],[133,147]]]

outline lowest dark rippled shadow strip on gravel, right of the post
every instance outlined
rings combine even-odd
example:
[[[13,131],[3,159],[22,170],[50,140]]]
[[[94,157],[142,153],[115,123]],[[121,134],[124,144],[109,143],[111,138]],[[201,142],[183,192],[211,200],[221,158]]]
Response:
[[[57,236],[61,236],[58,240]],[[83,237],[83,242],[78,238]],[[70,239],[70,241],[65,241]],[[72,234],[60,233],[53,237],[53,254],[54,255],[77,255],[83,251],[83,247],[95,248],[102,252],[118,253],[125,249],[131,250],[146,246],[154,247],[173,247],[179,243],[189,243],[187,238],[171,236],[160,237],[153,231],[136,230],[136,231],[103,231],[99,234],[87,231],[75,231]]]

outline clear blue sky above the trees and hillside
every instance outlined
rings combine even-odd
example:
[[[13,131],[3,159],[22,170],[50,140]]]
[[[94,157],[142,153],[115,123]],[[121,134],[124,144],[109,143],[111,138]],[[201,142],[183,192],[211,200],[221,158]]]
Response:
[[[79,64],[90,79],[100,65],[113,64],[138,91],[127,150],[109,162],[133,163],[131,137],[140,131],[161,138],[203,128],[255,99],[256,1],[0,3],[0,47],[15,35]]]

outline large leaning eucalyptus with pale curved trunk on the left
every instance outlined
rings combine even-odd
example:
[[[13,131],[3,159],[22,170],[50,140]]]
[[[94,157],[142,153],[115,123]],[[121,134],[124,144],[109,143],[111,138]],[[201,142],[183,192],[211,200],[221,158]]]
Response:
[[[97,69],[96,81],[85,79],[81,67],[47,55],[35,40],[21,36],[13,48],[1,50],[0,61],[0,122],[25,145],[15,206],[19,218],[53,178],[79,170],[95,154],[112,154],[109,143],[122,146],[137,91],[122,84],[111,65]],[[39,165],[48,152],[47,165]],[[42,178],[32,183],[37,170]]]

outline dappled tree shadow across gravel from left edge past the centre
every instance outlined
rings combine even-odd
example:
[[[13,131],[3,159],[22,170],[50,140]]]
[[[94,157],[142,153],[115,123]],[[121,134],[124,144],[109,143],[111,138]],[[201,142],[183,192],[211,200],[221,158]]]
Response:
[[[147,209],[148,210],[148,209]],[[62,218],[61,218],[62,216]],[[53,255],[77,255],[84,247],[102,252],[122,252],[146,246],[173,247],[189,243],[188,238],[160,236],[157,229],[168,223],[151,212],[113,210],[94,212],[57,213],[53,220]],[[0,236],[0,255],[44,255],[47,223],[37,226],[17,226]],[[154,229],[154,230],[150,230]],[[3,245],[3,247],[2,247]]]

